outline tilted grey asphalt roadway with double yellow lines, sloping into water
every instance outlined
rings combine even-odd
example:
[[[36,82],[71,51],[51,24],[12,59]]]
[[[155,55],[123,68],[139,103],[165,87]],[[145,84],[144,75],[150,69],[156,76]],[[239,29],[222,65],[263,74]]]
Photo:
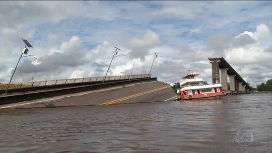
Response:
[[[0,109],[146,103],[174,101],[176,98],[178,96],[169,84],[154,81],[7,104]]]

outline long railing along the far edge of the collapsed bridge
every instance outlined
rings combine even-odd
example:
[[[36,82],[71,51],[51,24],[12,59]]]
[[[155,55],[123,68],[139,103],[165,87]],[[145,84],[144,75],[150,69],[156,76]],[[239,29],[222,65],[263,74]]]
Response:
[[[22,89],[22,88],[35,88],[35,87],[56,86],[56,85],[77,84],[77,83],[101,82],[104,80],[104,78],[105,77],[92,77],[92,78],[64,79],[64,80],[38,81],[38,82],[27,82],[27,83],[13,83],[13,84],[10,84],[9,89]],[[105,81],[141,79],[141,78],[151,78],[151,74],[109,76],[105,78]],[[0,91],[6,90],[7,86],[8,84],[0,84]]]

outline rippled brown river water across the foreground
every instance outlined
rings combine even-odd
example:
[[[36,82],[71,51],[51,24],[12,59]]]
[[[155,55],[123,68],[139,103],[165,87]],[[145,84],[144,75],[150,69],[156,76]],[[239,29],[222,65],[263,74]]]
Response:
[[[271,93],[0,115],[0,152],[272,151]]]

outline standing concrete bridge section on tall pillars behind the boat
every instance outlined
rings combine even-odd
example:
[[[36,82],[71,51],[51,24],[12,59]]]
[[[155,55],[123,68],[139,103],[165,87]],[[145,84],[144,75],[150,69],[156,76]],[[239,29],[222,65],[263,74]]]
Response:
[[[235,71],[223,57],[208,59],[210,60],[210,63],[212,63],[213,83],[221,83],[222,90],[227,91],[228,94],[249,93],[249,91],[252,90],[238,72]],[[219,70],[221,70],[221,78]],[[228,77],[230,81],[229,86]]]

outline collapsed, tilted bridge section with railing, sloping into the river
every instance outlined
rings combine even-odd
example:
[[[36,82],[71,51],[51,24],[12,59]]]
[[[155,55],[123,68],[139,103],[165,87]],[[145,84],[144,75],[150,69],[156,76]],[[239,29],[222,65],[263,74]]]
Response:
[[[169,84],[151,74],[0,85],[0,109],[144,103],[177,97]]]

